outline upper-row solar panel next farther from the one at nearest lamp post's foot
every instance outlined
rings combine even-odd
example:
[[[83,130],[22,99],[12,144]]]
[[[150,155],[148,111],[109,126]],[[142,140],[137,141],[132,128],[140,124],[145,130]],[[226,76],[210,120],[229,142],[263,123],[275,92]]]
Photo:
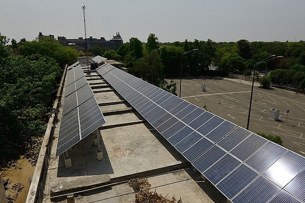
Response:
[[[235,125],[229,121],[225,121],[221,125],[219,125],[217,128],[210,131],[206,135],[206,137],[216,143],[216,142],[220,141],[223,137],[225,137],[226,134],[228,134],[230,131],[232,131],[236,126],[237,125]],[[198,131],[200,131],[200,129],[198,129]],[[200,132],[200,133],[203,133],[203,132]]]

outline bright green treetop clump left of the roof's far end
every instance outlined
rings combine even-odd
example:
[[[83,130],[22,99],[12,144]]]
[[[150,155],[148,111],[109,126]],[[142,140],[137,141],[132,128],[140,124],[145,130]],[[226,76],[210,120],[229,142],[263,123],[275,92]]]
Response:
[[[39,41],[24,42],[21,46],[23,56],[41,54],[49,56],[57,61],[60,67],[67,63],[72,64],[77,60],[78,52],[72,47],[64,47],[55,39],[40,37]]]

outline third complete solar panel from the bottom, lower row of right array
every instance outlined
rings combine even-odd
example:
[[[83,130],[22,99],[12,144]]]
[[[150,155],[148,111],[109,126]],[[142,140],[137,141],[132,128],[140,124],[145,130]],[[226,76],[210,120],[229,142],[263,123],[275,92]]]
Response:
[[[209,168],[216,161],[221,159],[226,154],[224,150],[217,146],[211,147],[204,154],[199,156],[194,162],[193,165],[197,168],[200,173],[203,173],[207,168]]]

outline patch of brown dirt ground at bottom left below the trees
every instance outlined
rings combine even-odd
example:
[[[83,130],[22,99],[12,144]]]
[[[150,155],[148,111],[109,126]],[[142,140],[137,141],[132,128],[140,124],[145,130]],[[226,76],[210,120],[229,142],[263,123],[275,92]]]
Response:
[[[12,181],[11,185],[18,182],[24,184],[24,189],[20,192],[17,200],[15,201],[15,203],[24,203],[26,200],[27,192],[29,190],[29,178],[32,179],[35,167],[33,167],[31,163],[27,161],[27,159],[22,158],[18,161],[18,167],[21,167],[22,169],[5,172],[4,176],[6,177],[4,179],[10,179],[10,181]],[[10,191],[6,191],[6,194],[14,195],[14,193]]]

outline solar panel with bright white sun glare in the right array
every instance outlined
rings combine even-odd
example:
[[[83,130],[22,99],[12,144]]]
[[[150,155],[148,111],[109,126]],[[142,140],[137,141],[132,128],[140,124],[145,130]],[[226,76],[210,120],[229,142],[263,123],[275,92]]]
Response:
[[[288,184],[304,167],[305,158],[291,151],[287,151],[273,163],[263,175],[281,187]]]

